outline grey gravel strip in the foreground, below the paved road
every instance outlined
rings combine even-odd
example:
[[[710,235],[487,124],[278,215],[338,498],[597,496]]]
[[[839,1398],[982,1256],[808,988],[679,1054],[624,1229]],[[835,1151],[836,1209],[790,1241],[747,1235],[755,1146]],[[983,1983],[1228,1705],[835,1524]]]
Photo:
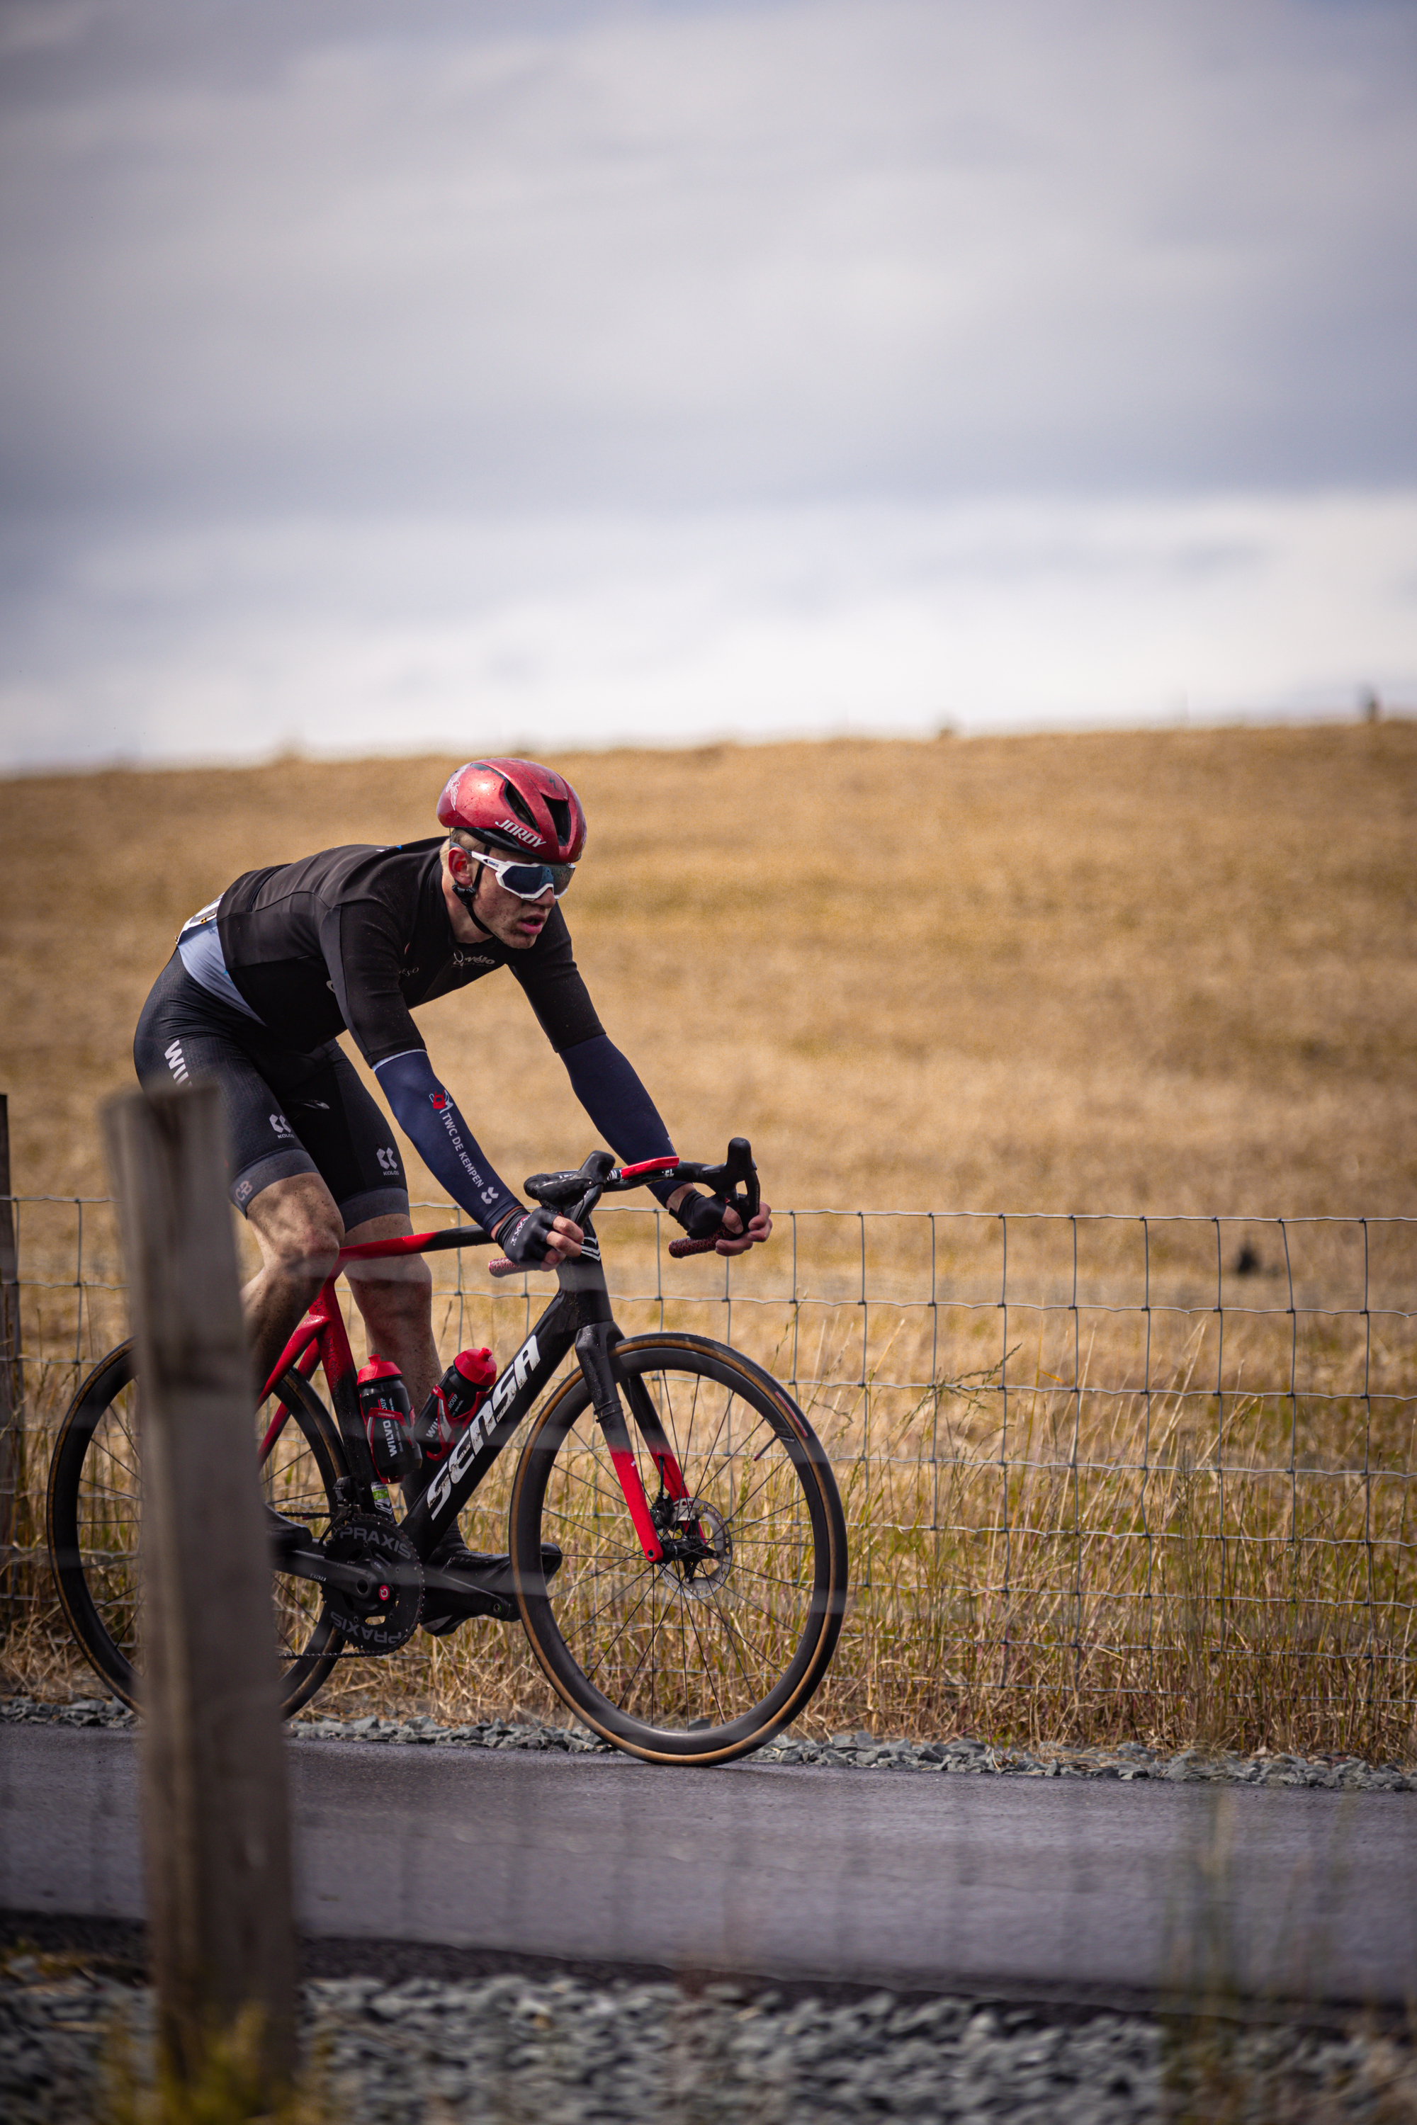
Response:
[[[1409,2125],[1417,2063],[1364,2029],[1060,2017],[979,2000],[848,2004],[773,1989],[380,1976],[302,1989],[312,2114],[544,2125],[807,2125],[1181,2119]],[[72,1957],[0,1964],[0,2108],[13,2125],[100,2116],[151,2085],[153,1998]]]

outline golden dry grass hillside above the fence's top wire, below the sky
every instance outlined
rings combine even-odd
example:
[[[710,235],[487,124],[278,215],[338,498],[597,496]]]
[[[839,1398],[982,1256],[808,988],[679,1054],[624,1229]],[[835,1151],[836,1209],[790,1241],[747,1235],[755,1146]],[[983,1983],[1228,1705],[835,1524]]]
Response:
[[[238,871],[431,831],[442,759],[0,784],[21,1192],[102,1192],[93,1109],[178,922]],[[567,899],[676,1139],[778,1203],[1404,1211],[1417,725],[561,759]],[[508,978],[425,1012],[514,1182],[588,1150]],[[514,1088],[514,1092],[512,1092]]]

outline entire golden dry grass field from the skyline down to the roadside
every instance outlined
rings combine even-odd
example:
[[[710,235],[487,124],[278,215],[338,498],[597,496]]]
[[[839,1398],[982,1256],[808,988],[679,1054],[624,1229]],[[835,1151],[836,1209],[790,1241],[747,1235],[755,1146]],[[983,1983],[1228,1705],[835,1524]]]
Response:
[[[96,1103],[132,1082],[132,1024],[191,910],[259,863],[423,835],[453,765],[2,784],[17,1192],[106,1192]],[[601,1018],[680,1148],[752,1137],[778,1207],[1417,1209],[1417,725],[557,765],[591,814],[567,916]],[[591,1148],[510,980],[423,1026],[512,1182]],[[1134,1288],[1120,1228],[1083,1232],[1094,1313],[1060,1307],[1018,1334],[1005,1320],[1003,1341],[994,1311],[867,1320],[846,1226],[801,1232],[816,1237],[797,1300],[814,1303],[786,1303],[786,1247],[767,1250],[741,1286],[763,1303],[735,1305],[733,1334],[780,1371],[792,1337],[799,1398],[848,1492],[858,1594],[814,1726],[1413,1753],[1413,1341],[1389,1324],[1364,1345],[1321,1320],[1360,1288],[1347,1239],[1292,1262],[1309,1292],[1296,1318],[1273,1258],[1243,1288],[1226,1262],[1226,1307],[1275,1311],[1236,1318],[1222,1358],[1213,1237],[1192,1258],[1181,1228],[1158,1232],[1151,1298],[1164,1288],[1177,1315],[1147,1315],[1141,1352],[1137,1298],[1126,1320],[1103,1311]],[[922,1235],[873,1237],[882,1292],[933,1292],[928,1275],[990,1288],[981,1226],[939,1226],[928,1275]],[[1028,1269],[1026,1239],[1015,1273],[1054,1303],[1066,1264],[1041,1232]],[[627,1260],[652,1288],[644,1243]],[[707,1275],[676,1271],[669,1315],[722,1332],[690,1300]],[[1381,1275],[1385,1303],[1411,1309],[1411,1256]],[[47,1305],[70,1334],[66,1296]],[[506,1347],[512,1318],[512,1294],[478,1296],[442,1326]],[[81,1343],[113,1326],[100,1307]],[[70,1377],[53,1373],[51,1407]],[[353,1666],[342,1694],[544,1702],[514,1630],[416,1645],[395,1668]],[[45,1628],[21,1666],[42,1681],[64,1658]]]

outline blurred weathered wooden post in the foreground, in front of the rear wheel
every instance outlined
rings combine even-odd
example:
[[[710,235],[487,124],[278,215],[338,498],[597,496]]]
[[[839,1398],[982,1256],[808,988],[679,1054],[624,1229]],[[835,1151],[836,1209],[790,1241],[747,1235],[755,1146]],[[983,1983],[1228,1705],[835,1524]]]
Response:
[[[104,1114],[138,1347],[142,1815],[164,2061],[246,2025],[295,2063],[295,1940],[270,1551],[215,1086]]]

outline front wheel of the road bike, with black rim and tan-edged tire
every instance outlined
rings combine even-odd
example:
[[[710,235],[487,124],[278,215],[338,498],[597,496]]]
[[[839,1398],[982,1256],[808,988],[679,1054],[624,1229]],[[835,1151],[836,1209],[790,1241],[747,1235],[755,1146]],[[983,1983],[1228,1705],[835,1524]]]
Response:
[[[648,1392],[688,1494],[716,1515],[697,1524],[712,1526],[718,1562],[695,1585],[693,1568],[644,1556],[574,1373],[537,1415],[512,1483],[523,1628],[563,1702],[605,1740],[650,1764],[727,1764],[788,1726],[826,1674],[846,1609],[841,1498],[805,1415],[750,1358],[705,1337],[648,1334],[618,1343],[616,1362]],[[659,1477],[625,1398],[654,1500]],[[550,1581],[544,1541],[563,1551]]]

